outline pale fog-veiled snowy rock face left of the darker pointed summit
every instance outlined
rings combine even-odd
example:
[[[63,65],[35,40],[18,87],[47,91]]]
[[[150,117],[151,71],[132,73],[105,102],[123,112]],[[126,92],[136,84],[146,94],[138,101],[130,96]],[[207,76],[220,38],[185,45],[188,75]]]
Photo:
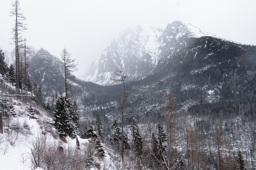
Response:
[[[162,32],[160,28],[141,26],[123,31],[102,52],[99,62],[91,67],[85,80],[113,84],[110,78],[115,77],[118,70],[123,70],[132,80],[150,75],[158,62]]]

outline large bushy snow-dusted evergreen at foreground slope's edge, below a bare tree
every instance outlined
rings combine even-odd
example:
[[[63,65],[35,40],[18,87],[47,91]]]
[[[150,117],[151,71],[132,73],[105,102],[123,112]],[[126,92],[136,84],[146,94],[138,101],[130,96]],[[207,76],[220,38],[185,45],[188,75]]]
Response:
[[[71,103],[69,99],[60,96],[56,102],[54,111],[55,122],[54,126],[58,130],[58,134],[62,137],[75,137],[75,124],[70,117]]]

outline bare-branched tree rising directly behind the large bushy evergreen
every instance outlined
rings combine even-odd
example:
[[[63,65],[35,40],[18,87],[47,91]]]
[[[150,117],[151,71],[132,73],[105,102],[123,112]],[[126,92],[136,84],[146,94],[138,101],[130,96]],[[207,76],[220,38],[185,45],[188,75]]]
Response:
[[[61,59],[62,59],[62,64],[64,65],[64,71],[65,71],[65,92],[66,92],[66,97],[68,97],[68,89],[70,88],[71,84],[67,81],[67,79],[74,80],[75,76],[72,75],[71,73],[76,71],[77,64],[75,64],[75,59],[71,59],[71,54],[64,48],[61,51]]]

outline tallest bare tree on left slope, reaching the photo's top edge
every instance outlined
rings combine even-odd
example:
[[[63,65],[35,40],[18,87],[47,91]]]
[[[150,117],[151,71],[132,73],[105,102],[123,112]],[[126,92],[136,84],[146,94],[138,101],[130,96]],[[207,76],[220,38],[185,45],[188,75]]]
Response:
[[[19,48],[22,46],[22,36],[21,33],[24,30],[27,30],[25,27],[26,24],[24,21],[26,20],[26,17],[23,15],[23,13],[20,13],[19,8],[19,1],[14,0],[12,2],[11,7],[11,16],[15,16],[15,27],[12,30],[13,34],[13,42],[15,43],[15,61],[16,61],[16,93],[19,94],[20,92],[20,74],[19,74]]]

